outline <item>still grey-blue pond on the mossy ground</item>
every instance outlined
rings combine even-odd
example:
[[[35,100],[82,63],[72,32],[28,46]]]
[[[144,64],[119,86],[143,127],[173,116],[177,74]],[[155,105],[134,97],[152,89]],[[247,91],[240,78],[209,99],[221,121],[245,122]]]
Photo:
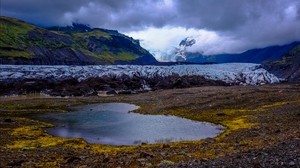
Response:
[[[221,126],[175,116],[143,115],[131,112],[138,106],[105,103],[78,106],[69,113],[36,116],[53,123],[47,132],[60,137],[80,137],[90,143],[139,145],[215,137]]]

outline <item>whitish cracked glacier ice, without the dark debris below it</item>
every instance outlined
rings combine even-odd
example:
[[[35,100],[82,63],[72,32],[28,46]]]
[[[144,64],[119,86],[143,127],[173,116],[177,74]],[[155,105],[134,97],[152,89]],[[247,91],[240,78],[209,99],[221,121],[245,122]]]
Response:
[[[221,80],[229,84],[262,85],[277,83],[280,79],[261,68],[259,64],[226,63],[211,65],[95,65],[95,66],[40,66],[40,65],[0,65],[0,81],[19,79],[65,80],[75,78],[78,81],[90,77],[129,77],[153,78],[155,76],[203,76],[207,79]]]

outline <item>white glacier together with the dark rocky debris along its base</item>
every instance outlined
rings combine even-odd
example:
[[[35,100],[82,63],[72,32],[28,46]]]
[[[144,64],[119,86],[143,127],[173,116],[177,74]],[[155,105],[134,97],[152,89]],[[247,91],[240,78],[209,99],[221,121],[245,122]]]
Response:
[[[0,66],[0,94],[135,93],[193,86],[263,85],[280,79],[258,64],[173,66]]]

